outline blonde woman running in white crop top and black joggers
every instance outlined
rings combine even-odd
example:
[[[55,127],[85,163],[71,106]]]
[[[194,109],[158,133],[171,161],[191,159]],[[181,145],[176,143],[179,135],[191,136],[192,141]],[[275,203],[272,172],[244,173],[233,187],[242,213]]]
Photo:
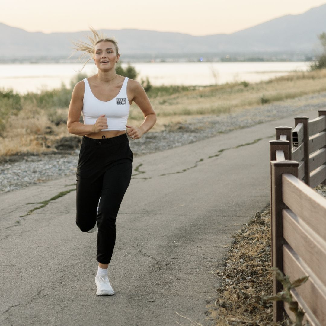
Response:
[[[76,224],[83,232],[97,230],[96,294],[112,295],[108,266],[115,244],[115,220],[132,172],[128,136],[141,138],[154,126],[156,114],[141,84],[116,74],[117,41],[91,30],[90,45],[74,44],[77,51],[84,52],[82,56],[91,55],[89,60],[94,60],[98,71],[75,85],[67,128],[83,136],[77,166]],[[127,125],[133,101],[144,114],[139,127]],[[81,112],[84,123],[79,122]]]

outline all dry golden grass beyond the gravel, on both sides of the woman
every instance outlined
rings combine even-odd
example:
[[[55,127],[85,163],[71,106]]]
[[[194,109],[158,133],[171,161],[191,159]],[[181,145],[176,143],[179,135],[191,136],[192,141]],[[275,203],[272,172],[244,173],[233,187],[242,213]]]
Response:
[[[231,83],[158,95],[152,99],[158,119],[151,131],[162,131],[166,126],[173,129],[173,125],[186,123],[196,116],[234,113],[262,102],[283,101],[322,91],[326,91],[326,69],[292,73],[267,82]],[[59,91],[56,101],[52,102],[65,100],[66,103],[66,93],[63,92],[61,98]],[[44,96],[45,103],[52,98],[50,95]],[[6,121],[0,135],[0,156],[51,151],[59,138],[71,136],[66,128],[68,108],[44,108],[31,99],[33,96],[22,99],[22,110]],[[142,112],[133,104],[128,124],[139,126],[142,121]]]

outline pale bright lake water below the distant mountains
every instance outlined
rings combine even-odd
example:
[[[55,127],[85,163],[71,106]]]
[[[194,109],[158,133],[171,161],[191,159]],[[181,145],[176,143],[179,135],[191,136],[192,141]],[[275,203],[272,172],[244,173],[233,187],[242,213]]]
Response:
[[[309,62],[192,62],[192,63],[133,63],[138,80],[149,78],[153,85],[213,85],[226,82],[259,82],[291,71],[306,71]],[[125,67],[126,64],[122,64]],[[21,94],[28,91],[69,85],[81,64],[0,64],[0,88],[13,88]],[[82,72],[93,75],[94,64]]]

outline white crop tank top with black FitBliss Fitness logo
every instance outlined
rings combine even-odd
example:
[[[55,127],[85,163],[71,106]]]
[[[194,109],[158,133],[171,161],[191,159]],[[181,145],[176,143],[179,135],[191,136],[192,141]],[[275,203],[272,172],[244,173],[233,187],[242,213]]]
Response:
[[[125,78],[120,92],[110,101],[104,102],[94,96],[87,79],[84,79],[84,104],[82,108],[84,124],[94,125],[100,115],[105,114],[108,128],[103,130],[126,130],[130,104],[127,97],[127,82]]]

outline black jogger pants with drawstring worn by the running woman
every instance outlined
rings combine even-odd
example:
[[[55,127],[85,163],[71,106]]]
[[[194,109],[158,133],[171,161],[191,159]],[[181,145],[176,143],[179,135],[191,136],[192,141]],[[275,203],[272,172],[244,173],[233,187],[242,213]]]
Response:
[[[77,166],[76,224],[86,232],[97,222],[96,260],[102,264],[111,261],[115,219],[131,172],[132,152],[126,134],[107,139],[83,136]]]

